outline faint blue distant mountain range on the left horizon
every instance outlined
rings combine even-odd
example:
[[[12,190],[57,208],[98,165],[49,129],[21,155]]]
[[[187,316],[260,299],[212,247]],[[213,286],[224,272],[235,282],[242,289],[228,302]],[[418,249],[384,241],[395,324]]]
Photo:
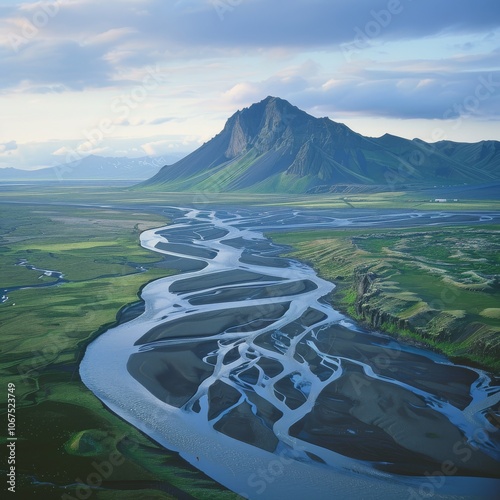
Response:
[[[0,169],[2,181],[140,181],[155,175],[162,162],[156,158],[111,158],[89,155],[81,160],[38,170]]]

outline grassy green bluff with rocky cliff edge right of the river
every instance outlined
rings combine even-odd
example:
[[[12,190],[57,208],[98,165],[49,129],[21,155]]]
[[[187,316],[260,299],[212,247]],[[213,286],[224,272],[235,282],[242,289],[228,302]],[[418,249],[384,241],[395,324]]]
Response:
[[[337,286],[373,328],[500,372],[500,228],[336,229],[270,235]]]

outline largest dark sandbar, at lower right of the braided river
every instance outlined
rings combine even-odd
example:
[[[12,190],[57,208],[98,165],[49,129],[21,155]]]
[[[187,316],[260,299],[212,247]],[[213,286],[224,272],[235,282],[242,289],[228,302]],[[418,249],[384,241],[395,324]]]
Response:
[[[499,475],[498,462],[466,445],[460,431],[422,397],[368,377],[352,363],[291,431],[343,455],[382,462],[379,468],[391,472],[423,475],[451,461],[460,474]],[[465,453],[456,450],[465,448],[468,458],[462,460]]]

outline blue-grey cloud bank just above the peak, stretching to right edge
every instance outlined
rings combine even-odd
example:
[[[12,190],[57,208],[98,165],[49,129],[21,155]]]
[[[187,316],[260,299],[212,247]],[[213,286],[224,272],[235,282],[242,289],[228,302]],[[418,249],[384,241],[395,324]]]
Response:
[[[277,95],[329,116],[494,119],[500,115],[500,69],[480,68],[493,66],[497,57],[493,51],[445,61],[364,61],[346,66],[333,78],[313,71],[315,65],[305,65],[266,80],[238,82],[223,97],[246,106]]]

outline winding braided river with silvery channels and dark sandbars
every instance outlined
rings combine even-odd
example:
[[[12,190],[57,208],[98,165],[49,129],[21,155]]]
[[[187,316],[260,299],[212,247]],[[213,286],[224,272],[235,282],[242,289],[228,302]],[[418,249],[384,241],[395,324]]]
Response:
[[[500,387],[371,332],[264,232],[498,221],[498,214],[167,208],[141,235],[181,272],[87,348],[112,411],[247,498],[495,498]]]

